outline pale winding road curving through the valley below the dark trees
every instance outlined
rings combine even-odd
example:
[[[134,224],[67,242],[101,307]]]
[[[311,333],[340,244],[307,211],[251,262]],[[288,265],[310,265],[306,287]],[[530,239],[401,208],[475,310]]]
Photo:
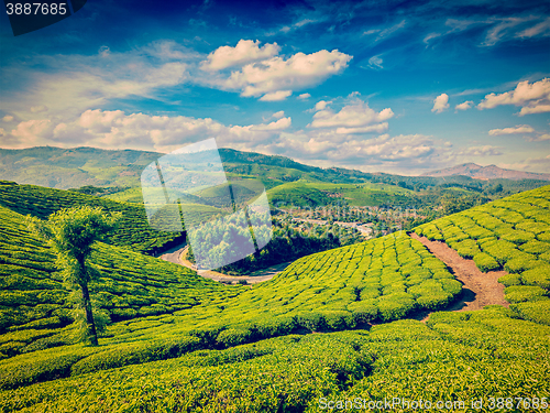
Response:
[[[187,267],[188,269],[194,270],[193,263],[188,260],[186,260],[184,257],[187,252],[187,246],[185,247],[175,247],[172,250],[168,250],[164,254],[162,254],[160,258],[174,262],[175,264],[184,265]],[[197,271],[197,274],[200,276],[204,276],[206,279],[211,279],[215,281],[230,281],[232,283],[238,283],[239,280],[245,280],[248,284],[256,284],[262,281],[267,281],[273,279],[276,274],[279,272],[283,272],[292,262],[284,262],[277,265],[273,265],[263,270],[255,271],[251,273],[250,275],[226,275],[222,274],[221,272],[217,271],[209,271],[209,270],[195,270]]]

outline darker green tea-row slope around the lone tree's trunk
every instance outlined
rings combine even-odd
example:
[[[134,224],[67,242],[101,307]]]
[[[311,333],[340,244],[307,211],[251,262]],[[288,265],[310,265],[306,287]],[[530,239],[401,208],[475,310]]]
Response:
[[[94,253],[101,278],[94,285],[97,305],[113,322],[172,314],[234,296],[223,285],[186,268],[113,246]],[[0,207],[0,357],[72,343],[68,291],[54,257],[26,230],[24,217]]]

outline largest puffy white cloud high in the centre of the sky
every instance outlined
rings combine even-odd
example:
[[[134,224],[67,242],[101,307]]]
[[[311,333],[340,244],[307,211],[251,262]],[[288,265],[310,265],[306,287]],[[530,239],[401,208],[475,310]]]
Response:
[[[311,53],[296,53],[285,59],[274,56],[243,66],[231,73],[224,80],[216,80],[213,86],[226,90],[240,90],[243,97],[266,96],[264,100],[275,100],[294,90],[319,84],[329,76],[341,73],[352,56],[337,50]]]

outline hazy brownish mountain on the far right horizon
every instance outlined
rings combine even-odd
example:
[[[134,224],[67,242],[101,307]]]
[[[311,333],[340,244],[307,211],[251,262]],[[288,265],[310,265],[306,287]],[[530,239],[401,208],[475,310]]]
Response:
[[[481,166],[475,163],[464,163],[462,165],[457,165],[444,170],[428,172],[422,174],[421,176],[442,177],[442,176],[453,176],[453,175],[470,176],[476,180],[550,181],[550,174],[504,170],[496,165]]]

